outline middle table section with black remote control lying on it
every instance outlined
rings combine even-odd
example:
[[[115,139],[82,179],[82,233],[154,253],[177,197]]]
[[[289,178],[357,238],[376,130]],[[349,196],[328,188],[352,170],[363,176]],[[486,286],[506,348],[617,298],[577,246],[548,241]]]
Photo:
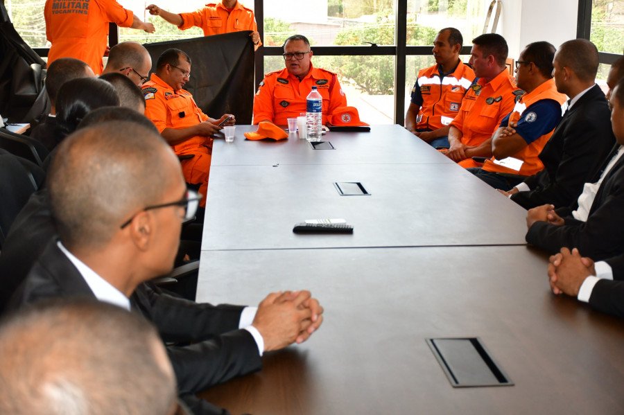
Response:
[[[333,182],[370,196],[340,196]],[[212,166],[202,249],[524,244],[526,211],[456,164]],[[299,235],[344,218],[352,235]]]

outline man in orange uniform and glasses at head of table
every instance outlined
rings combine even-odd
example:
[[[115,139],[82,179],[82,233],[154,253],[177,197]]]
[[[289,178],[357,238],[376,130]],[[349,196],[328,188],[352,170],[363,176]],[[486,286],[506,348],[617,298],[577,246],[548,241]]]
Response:
[[[294,35],[284,42],[286,69],[268,73],[254,99],[254,124],[270,121],[287,125],[287,118],[306,112],[306,96],[317,87],[323,98],[322,123],[338,107],[347,106],[347,98],[336,73],[312,67],[310,42],[305,36]]]

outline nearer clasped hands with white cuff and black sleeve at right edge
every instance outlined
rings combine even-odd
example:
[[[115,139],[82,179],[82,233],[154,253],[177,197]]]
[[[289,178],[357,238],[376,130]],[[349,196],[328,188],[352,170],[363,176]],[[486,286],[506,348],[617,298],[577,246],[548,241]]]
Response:
[[[551,256],[548,279],[555,294],[568,294],[598,311],[624,317],[624,254],[594,263],[578,249]]]

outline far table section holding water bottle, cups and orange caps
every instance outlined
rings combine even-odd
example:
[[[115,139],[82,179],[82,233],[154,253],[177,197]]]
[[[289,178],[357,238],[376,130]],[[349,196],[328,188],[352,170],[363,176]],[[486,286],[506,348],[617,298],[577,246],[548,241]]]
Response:
[[[217,139],[212,166],[273,164],[453,164],[448,157],[400,125],[372,125],[370,132],[328,132],[324,141],[335,150],[313,150],[297,134],[287,140],[249,141],[244,132],[255,125],[236,125],[232,143]]]

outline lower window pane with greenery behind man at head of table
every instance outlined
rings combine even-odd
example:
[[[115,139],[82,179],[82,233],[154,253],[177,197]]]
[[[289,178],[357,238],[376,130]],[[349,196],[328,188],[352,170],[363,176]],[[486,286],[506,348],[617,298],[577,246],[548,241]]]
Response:
[[[338,73],[347,104],[369,124],[392,124],[395,118],[394,56],[315,56],[315,67]],[[281,56],[266,56],[266,73],[284,69]]]

